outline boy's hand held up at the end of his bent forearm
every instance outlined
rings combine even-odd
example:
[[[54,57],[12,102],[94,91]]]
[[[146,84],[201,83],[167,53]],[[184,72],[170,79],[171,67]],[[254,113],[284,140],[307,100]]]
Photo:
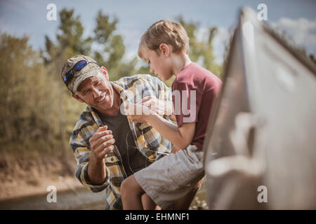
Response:
[[[127,104],[125,113],[132,122],[148,123],[148,118],[154,111],[143,104]]]

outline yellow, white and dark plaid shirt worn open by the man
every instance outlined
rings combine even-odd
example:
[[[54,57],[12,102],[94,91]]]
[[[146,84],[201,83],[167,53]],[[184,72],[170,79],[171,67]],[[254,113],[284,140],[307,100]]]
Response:
[[[136,103],[143,97],[154,95],[157,99],[172,102],[171,89],[166,87],[162,81],[150,75],[135,75],[124,77],[112,82],[113,87],[120,93],[124,102]],[[171,117],[164,116],[171,120]],[[94,186],[88,179],[88,161],[90,156],[89,139],[95,134],[98,127],[102,126],[96,110],[87,106],[81,113],[81,116],[74,127],[70,137],[70,146],[74,151],[74,157],[77,160],[76,177],[88,189],[93,192],[105,190],[106,201],[105,209],[122,209],[120,186],[126,178],[126,173],[121,161],[119,150],[114,147],[114,151],[108,153],[105,158],[107,177],[100,186]],[[152,126],[146,123],[131,123],[131,132],[133,133],[135,143],[140,153],[154,162],[162,157],[152,151],[161,151],[170,153],[171,143],[164,139]],[[150,149],[152,151],[147,151]]]

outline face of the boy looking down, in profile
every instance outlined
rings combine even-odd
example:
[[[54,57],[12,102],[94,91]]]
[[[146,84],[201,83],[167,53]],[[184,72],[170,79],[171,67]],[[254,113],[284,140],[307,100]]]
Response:
[[[143,48],[143,59],[149,64],[150,72],[154,73],[161,80],[169,80],[173,76],[172,66],[169,57],[164,52],[159,55],[156,51]]]

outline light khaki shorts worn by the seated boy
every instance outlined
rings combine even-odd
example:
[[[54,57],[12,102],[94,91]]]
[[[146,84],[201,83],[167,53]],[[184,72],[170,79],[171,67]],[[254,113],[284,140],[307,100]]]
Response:
[[[187,195],[204,176],[203,152],[197,150],[190,145],[134,174],[140,187],[162,209]]]

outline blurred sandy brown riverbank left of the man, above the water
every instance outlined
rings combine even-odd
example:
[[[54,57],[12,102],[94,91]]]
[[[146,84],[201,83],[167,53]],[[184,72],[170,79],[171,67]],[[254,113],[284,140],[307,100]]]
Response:
[[[72,155],[13,155],[0,159],[0,200],[47,193],[48,186],[57,190],[82,187],[74,177],[76,163]]]

